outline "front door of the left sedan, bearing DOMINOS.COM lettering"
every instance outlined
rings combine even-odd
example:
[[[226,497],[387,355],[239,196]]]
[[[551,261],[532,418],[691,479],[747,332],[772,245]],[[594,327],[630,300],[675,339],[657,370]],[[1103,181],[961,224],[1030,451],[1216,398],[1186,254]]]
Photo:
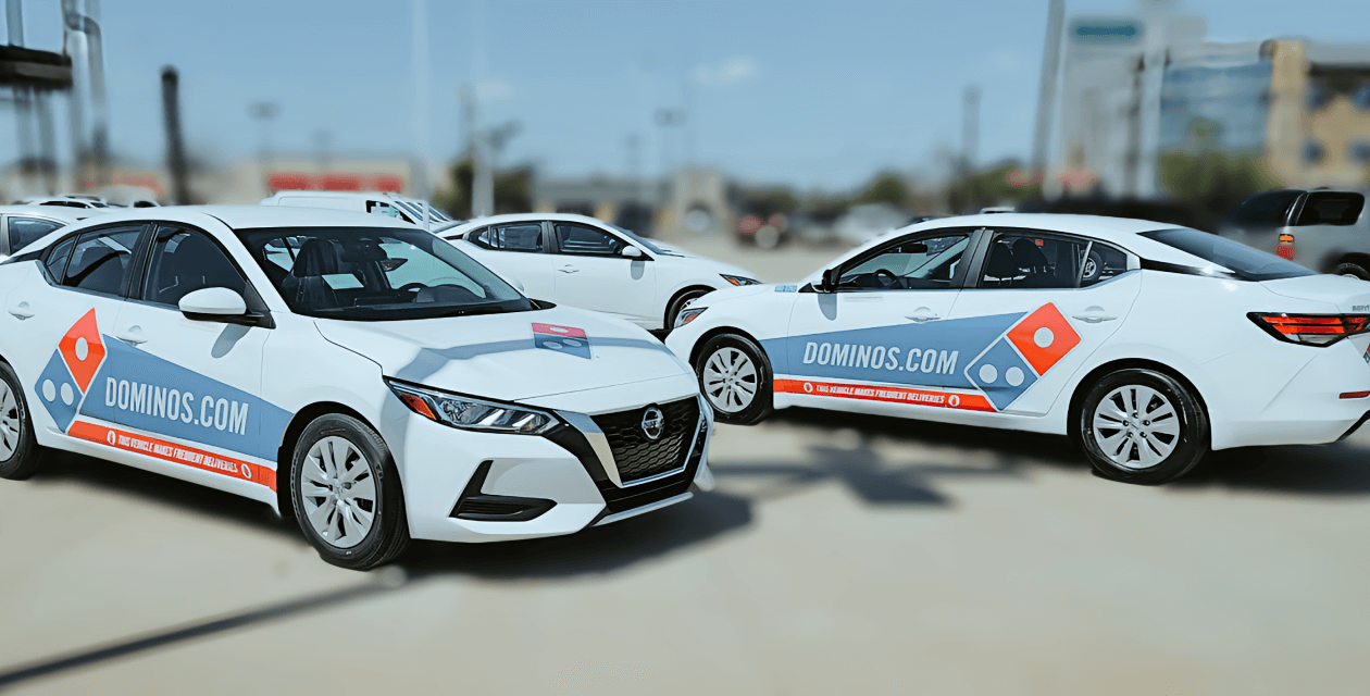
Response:
[[[130,299],[115,322],[110,364],[89,412],[118,437],[134,437],[147,456],[219,474],[207,485],[238,493],[274,489],[284,411],[262,400],[262,355],[270,314],[255,288],[210,234],[159,223]],[[249,315],[190,319],[178,308],[195,290],[227,288]],[[284,427],[284,425],[281,426]]]

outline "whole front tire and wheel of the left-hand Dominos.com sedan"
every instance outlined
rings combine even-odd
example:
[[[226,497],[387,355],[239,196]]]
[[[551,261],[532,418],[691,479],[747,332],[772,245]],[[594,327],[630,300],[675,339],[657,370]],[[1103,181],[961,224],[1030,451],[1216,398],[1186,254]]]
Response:
[[[304,538],[334,566],[369,570],[410,543],[390,449],[349,415],[322,415],[300,434],[290,459],[290,507]]]

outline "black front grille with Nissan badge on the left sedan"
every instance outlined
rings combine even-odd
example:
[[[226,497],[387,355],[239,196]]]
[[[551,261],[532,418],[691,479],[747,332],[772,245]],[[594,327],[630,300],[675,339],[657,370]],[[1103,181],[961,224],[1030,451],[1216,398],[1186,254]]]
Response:
[[[619,480],[625,485],[685,466],[695,427],[699,425],[697,399],[660,404],[658,408],[662,410],[666,425],[659,438],[649,440],[643,430],[643,414],[647,408],[592,417],[608,438]]]

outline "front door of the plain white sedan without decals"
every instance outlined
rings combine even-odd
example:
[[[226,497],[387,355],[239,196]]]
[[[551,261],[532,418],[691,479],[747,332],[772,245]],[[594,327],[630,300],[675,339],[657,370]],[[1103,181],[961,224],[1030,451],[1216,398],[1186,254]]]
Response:
[[[660,326],[664,307],[656,311],[656,269],[645,251],[626,258],[627,240],[578,222],[552,222],[552,237],[558,301]]]

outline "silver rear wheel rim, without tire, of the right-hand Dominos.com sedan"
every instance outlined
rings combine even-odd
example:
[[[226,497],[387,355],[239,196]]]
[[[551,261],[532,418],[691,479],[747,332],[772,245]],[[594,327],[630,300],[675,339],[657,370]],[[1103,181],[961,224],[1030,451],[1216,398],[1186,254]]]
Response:
[[[1093,414],[1095,443],[1123,469],[1151,469],[1180,444],[1180,415],[1160,392],[1125,385],[1108,392]]]

